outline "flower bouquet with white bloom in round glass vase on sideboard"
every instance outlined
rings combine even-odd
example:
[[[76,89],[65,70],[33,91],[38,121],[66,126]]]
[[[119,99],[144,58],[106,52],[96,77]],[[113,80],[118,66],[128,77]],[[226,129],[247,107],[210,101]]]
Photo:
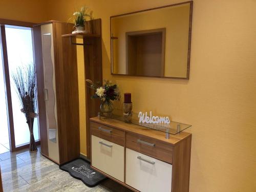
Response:
[[[103,86],[98,86],[98,83],[94,83],[90,79],[86,79],[86,81],[91,84],[90,88],[95,90],[91,98],[99,98],[101,100],[100,111],[109,116],[114,110],[112,101],[120,100],[118,86],[109,80],[104,80]]]

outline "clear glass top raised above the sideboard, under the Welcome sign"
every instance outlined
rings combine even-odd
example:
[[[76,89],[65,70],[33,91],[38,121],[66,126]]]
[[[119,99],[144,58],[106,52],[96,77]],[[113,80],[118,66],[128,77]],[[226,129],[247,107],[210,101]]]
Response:
[[[116,109],[112,112],[111,115],[101,114],[101,117],[117,119],[117,120],[120,120],[120,121],[123,121],[123,122],[126,122],[126,123],[132,123],[132,124],[144,126],[144,127],[149,128],[149,129],[158,130],[158,131],[173,134],[173,135],[176,135],[176,134],[178,134],[178,133],[180,133],[180,132],[184,131],[185,129],[192,126],[192,125],[189,125],[189,124],[184,124],[184,123],[175,122],[175,121],[170,121],[169,124],[164,124],[164,123],[161,123],[161,124],[160,123],[142,123],[142,122],[139,122],[138,113],[133,112],[132,117],[130,119],[128,119],[127,117],[125,117],[123,115],[122,110],[116,110]]]

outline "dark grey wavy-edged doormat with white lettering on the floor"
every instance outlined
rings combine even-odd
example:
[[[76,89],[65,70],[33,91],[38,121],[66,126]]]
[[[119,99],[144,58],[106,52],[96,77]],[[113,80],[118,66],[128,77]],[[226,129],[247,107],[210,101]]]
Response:
[[[92,169],[90,163],[82,158],[78,158],[66,164],[62,164],[59,166],[59,168],[69,172],[72,177],[80,179],[89,187],[94,187],[106,179],[105,176]]]

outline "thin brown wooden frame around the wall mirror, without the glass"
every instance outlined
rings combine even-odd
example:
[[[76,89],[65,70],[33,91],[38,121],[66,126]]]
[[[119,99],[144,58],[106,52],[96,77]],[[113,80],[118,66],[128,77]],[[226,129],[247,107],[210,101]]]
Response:
[[[112,47],[112,29],[111,29],[111,20],[114,17],[118,16],[123,16],[123,15],[130,15],[134,13],[139,13],[139,12],[145,12],[145,11],[151,11],[155,9],[162,9],[166,7],[173,7],[173,6],[178,6],[178,5],[183,5],[183,4],[190,4],[190,9],[189,9],[189,30],[188,30],[188,48],[187,48],[187,75],[186,77],[160,77],[160,76],[146,76],[146,75],[129,75],[129,74],[118,74],[118,73],[113,73],[113,47]],[[114,15],[110,17],[110,54],[111,54],[111,75],[121,75],[121,76],[134,76],[134,77],[155,77],[155,78],[172,78],[172,79],[189,79],[189,68],[190,68],[190,50],[191,50],[191,31],[192,31],[192,15],[193,15],[193,1],[187,1],[187,2],[182,2],[182,3],[177,3],[177,4],[172,4],[172,5],[166,5],[166,6],[161,6],[161,7],[156,7],[156,8],[151,8],[151,9],[145,9],[145,10],[140,10],[140,11],[134,11],[130,13],[124,13],[124,14],[119,14],[119,15]]]

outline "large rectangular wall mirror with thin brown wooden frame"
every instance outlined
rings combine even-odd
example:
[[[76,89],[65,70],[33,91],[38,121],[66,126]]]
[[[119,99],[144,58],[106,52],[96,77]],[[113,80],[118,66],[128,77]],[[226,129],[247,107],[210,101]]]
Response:
[[[193,1],[110,17],[111,73],[189,79]]]

